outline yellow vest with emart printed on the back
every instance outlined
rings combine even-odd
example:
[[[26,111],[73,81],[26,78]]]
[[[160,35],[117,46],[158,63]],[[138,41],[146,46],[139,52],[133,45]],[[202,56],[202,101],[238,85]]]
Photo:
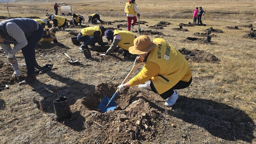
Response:
[[[192,73],[185,57],[164,39],[156,38],[153,41],[158,45],[151,50],[147,61],[155,62],[161,68],[158,75],[151,78],[158,94],[166,92],[180,80],[188,82]]]

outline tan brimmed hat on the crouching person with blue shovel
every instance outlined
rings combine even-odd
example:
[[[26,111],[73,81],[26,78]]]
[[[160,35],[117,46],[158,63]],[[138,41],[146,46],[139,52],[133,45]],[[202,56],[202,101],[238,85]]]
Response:
[[[144,54],[153,50],[157,45],[157,42],[151,42],[148,36],[142,35],[134,39],[133,46],[129,48],[129,53]]]

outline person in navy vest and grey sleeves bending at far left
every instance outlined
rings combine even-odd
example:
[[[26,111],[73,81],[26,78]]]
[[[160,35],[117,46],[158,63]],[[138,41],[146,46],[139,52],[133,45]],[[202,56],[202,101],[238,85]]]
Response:
[[[14,68],[12,78],[19,80],[19,85],[29,84],[36,80],[35,77],[35,46],[44,35],[41,24],[33,19],[16,18],[0,22],[0,46]],[[11,48],[10,44],[14,44]],[[27,67],[27,78],[22,81],[22,73],[19,70],[15,53],[22,50]]]

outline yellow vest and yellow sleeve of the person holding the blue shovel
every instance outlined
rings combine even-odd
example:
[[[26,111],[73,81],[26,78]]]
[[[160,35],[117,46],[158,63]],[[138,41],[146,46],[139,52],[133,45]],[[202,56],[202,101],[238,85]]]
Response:
[[[129,85],[136,86],[151,79],[158,94],[162,94],[180,80],[188,82],[192,72],[185,57],[164,39],[153,41],[158,45],[148,54],[143,69],[129,81]]]

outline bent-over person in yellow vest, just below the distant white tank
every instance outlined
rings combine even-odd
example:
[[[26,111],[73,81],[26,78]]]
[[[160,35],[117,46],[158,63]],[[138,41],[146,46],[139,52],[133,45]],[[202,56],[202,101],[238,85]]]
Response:
[[[59,30],[67,29],[67,19],[66,18],[59,16],[59,15],[50,15],[49,20],[53,21],[53,27],[58,27]]]

